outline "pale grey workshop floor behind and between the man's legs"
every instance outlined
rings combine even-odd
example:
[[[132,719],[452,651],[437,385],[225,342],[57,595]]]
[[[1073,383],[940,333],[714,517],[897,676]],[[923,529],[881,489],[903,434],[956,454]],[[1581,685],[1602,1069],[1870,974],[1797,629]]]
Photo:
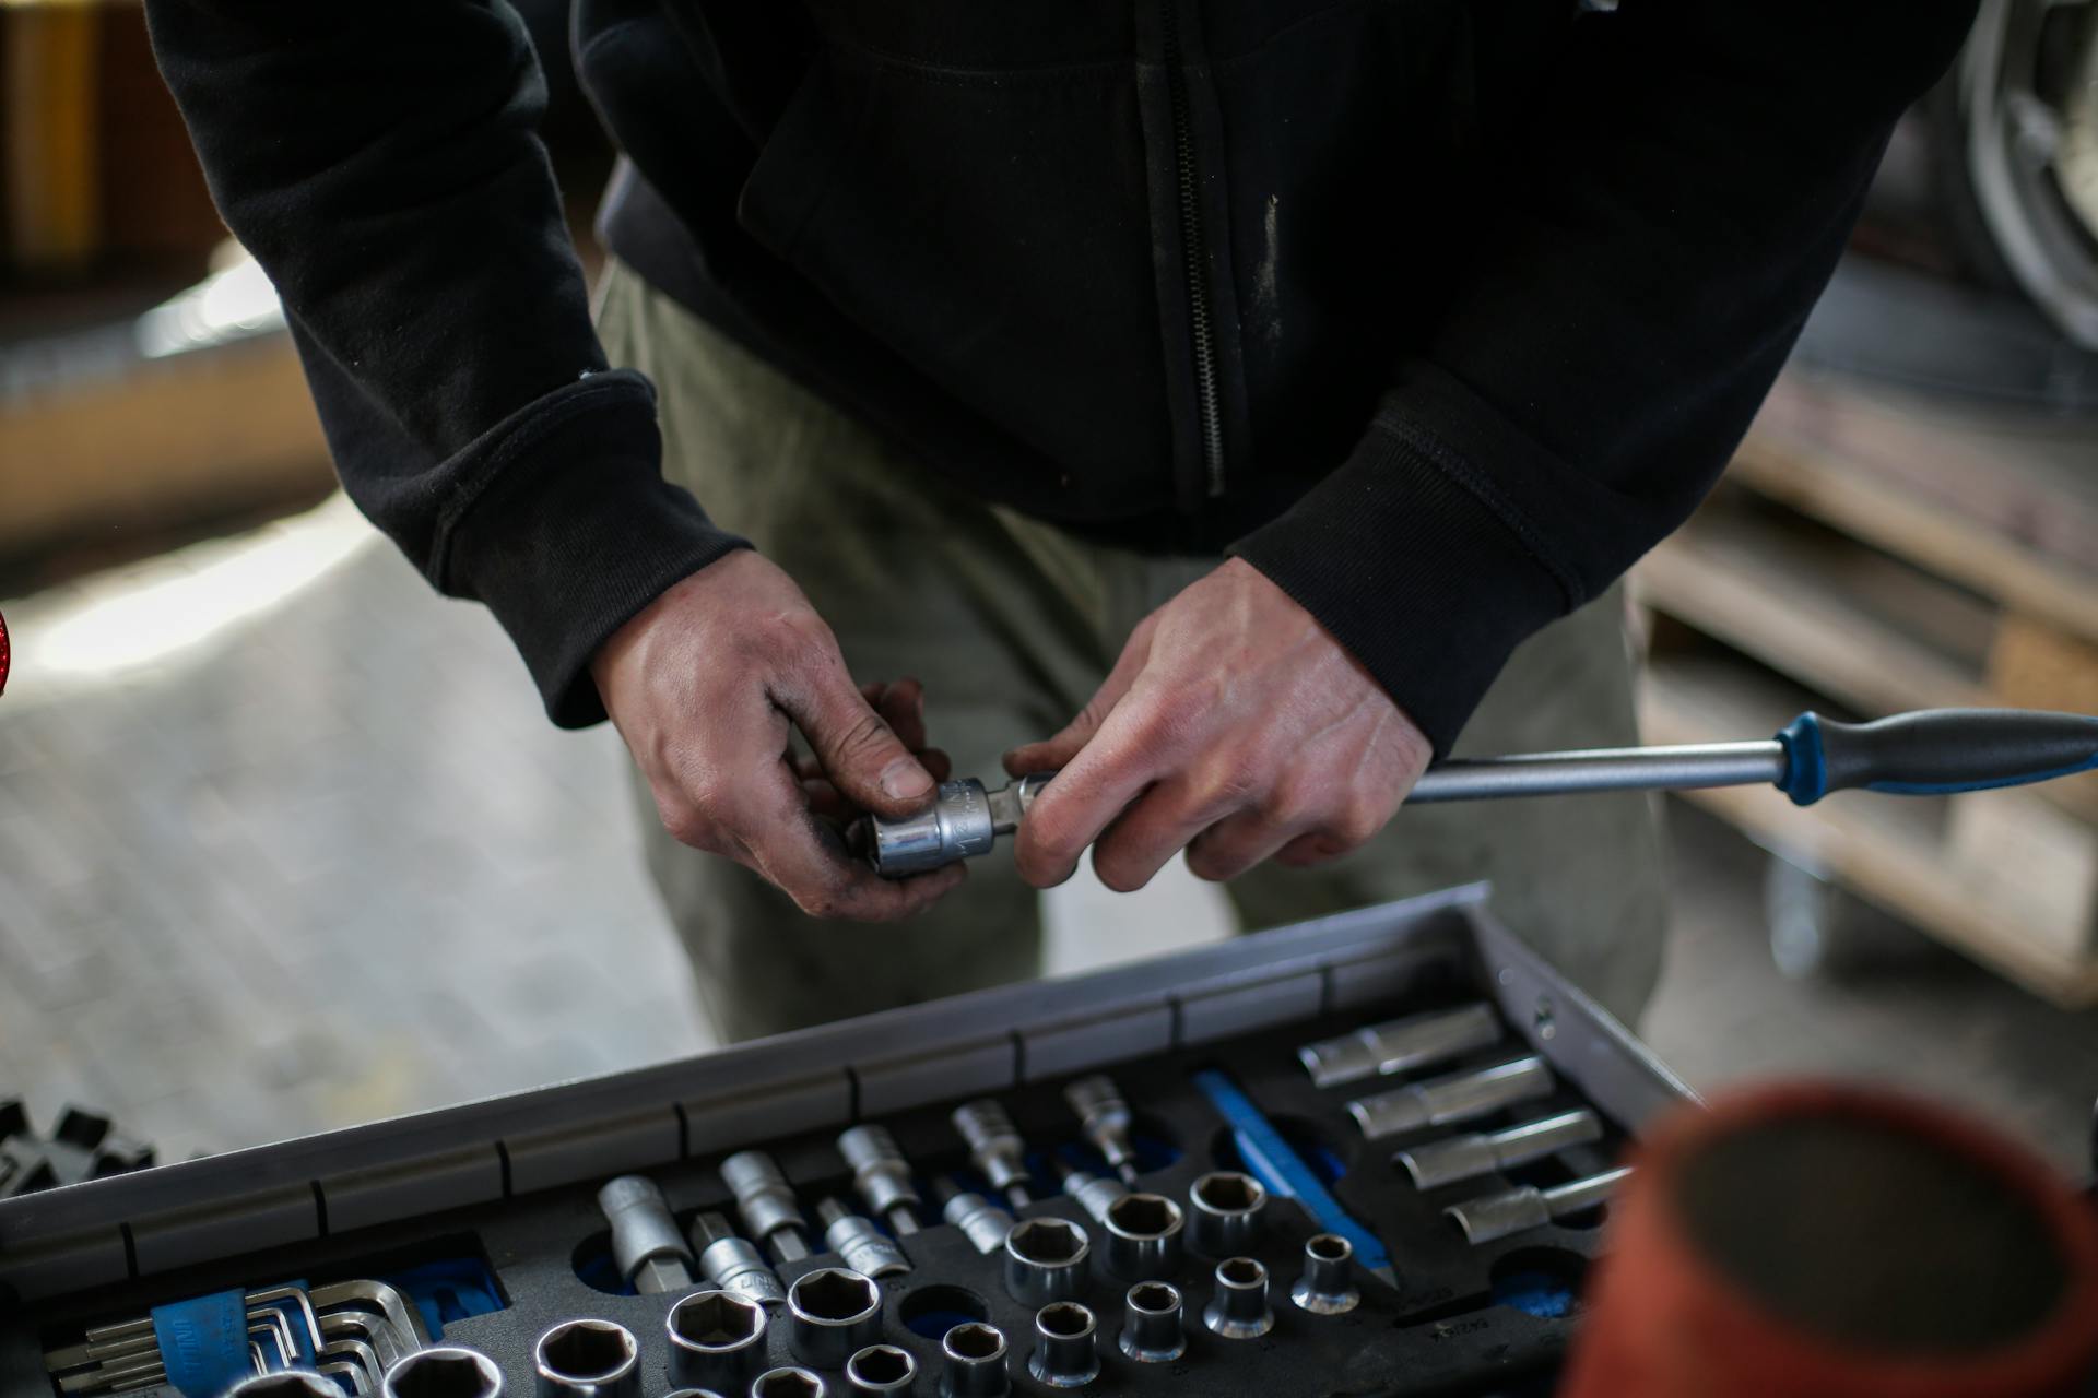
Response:
[[[174,1159],[707,1046],[617,736],[548,727],[495,625],[340,499],[0,610],[0,1096]],[[2098,1014],[1913,937],[1785,981],[1760,855],[1674,830],[1643,1033],[1693,1086],[1897,1082],[2088,1167]],[[1227,931],[1185,872],[1049,910],[1057,970]]]

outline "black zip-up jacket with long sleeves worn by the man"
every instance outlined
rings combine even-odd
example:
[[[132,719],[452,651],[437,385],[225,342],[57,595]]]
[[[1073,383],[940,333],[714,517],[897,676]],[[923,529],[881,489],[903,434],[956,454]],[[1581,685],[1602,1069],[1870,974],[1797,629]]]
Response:
[[[1238,553],[1448,750],[1718,476],[1972,8],[579,0],[575,40],[642,275],[963,488]],[[606,369],[524,29],[147,17],[352,499],[600,719],[590,654],[741,541]]]

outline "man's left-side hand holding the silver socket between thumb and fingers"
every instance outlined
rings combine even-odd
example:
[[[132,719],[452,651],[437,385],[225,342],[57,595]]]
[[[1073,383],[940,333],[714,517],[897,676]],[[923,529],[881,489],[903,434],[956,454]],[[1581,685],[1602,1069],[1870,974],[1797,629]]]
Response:
[[[713,562],[613,633],[590,664],[663,828],[778,884],[816,918],[902,918],[961,866],[877,878],[822,815],[908,815],[946,757],[925,746],[917,681],[858,690],[837,637],[757,553]],[[877,713],[879,706],[879,713]],[[814,750],[804,769],[791,727]]]

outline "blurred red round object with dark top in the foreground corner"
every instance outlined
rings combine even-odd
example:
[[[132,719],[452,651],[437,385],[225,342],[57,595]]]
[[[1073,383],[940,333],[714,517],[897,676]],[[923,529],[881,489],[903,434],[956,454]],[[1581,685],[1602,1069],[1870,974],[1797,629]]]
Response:
[[[1783,1084],[1634,1153],[1561,1398],[2037,1398],[2098,1352],[2098,1218],[1894,1094]]]

